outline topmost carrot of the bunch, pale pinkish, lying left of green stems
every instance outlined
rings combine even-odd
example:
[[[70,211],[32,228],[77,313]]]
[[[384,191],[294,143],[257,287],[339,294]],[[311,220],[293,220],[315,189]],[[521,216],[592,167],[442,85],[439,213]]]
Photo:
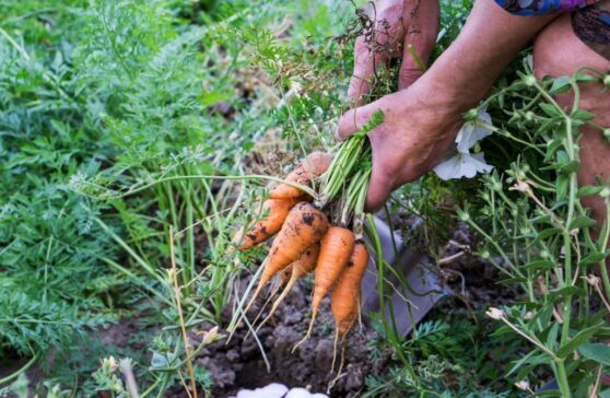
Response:
[[[330,166],[332,156],[324,152],[312,152],[288,176],[290,183],[309,186],[312,180],[322,175]],[[269,195],[271,199],[294,199],[306,196],[301,189],[288,184],[278,185]]]

